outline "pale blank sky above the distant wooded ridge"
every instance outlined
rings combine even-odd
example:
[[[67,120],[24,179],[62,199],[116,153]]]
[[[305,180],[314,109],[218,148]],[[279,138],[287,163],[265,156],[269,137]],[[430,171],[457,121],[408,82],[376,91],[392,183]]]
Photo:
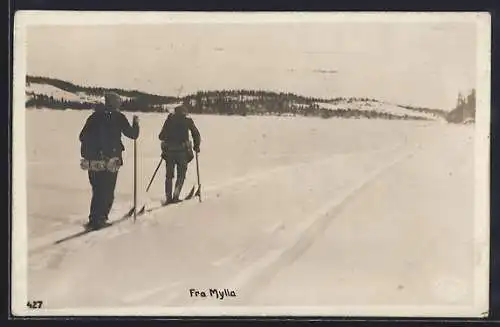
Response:
[[[27,72],[176,95],[267,89],[451,109],[475,87],[474,23],[31,26]]]

